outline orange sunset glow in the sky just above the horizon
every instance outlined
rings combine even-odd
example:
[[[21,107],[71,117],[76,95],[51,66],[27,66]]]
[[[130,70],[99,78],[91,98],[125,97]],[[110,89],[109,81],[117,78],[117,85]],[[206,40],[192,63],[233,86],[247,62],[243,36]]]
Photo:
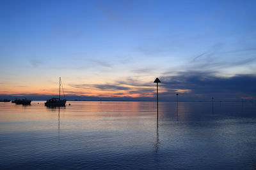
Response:
[[[65,95],[68,96],[88,96],[88,97],[155,97],[156,87],[152,86],[138,86],[130,84],[118,85],[106,84],[64,84]],[[113,86],[113,87],[112,87]],[[173,93],[189,93],[190,89],[170,89]],[[164,87],[159,87],[159,94],[170,92]],[[29,85],[14,85],[14,83],[0,84],[0,95],[6,96],[58,96],[58,83],[45,83],[38,85],[33,82]],[[61,96],[63,91],[61,89]]]

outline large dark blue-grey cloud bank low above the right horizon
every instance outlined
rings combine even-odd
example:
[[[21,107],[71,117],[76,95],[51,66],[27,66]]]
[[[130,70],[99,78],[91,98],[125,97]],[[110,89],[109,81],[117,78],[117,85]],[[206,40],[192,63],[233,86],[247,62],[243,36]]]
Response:
[[[229,78],[214,76],[213,73],[183,72],[176,76],[161,77],[161,86],[170,94],[173,89],[185,90],[190,98],[209,98],[211,96],[219,99],[235,97],[253,97],[256,99],[256,75],[239,74]],[[188,91],[189,90],[189,91]],[[168,92],[165,94],[167,95]],[[174,94],[173,94],[174,95]]]

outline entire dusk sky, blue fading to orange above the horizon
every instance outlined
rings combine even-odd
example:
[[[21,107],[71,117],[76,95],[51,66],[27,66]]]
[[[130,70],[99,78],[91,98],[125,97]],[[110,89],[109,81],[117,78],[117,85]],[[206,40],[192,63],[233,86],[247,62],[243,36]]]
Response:
[[[256,1],[0,1],[0,97],[256,101]],[[41,98],[40,98],[41,97]]]

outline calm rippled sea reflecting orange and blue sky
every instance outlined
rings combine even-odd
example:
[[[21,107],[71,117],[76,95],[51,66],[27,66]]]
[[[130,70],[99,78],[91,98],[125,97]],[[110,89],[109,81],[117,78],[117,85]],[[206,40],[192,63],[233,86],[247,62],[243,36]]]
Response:
[[[0,103],[0,169],[256,168],[255,103],[68,103]]]

